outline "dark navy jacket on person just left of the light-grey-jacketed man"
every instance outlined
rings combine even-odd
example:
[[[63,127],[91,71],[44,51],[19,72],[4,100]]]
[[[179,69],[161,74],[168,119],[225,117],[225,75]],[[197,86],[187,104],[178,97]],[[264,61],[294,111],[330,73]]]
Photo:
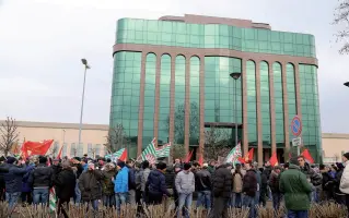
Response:
[[[149,193],[154,195],[170,195],[166,189],[165,175],[159,170],[152,170],[149,173],[146,186],[148,186]]]

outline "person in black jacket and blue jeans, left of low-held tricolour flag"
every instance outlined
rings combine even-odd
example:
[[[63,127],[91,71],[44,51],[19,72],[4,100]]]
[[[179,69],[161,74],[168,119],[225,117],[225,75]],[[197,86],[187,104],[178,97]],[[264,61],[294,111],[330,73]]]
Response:
[[[33,187],[33,203],[48,204],[49,189],[53,186],[53,169],[47,167],[47,158],[42,156],[38,166],[32,171],[28,183]]]

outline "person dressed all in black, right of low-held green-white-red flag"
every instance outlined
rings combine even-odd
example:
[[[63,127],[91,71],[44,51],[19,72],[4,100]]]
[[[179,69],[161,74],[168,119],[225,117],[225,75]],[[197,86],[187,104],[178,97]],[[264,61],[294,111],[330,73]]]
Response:
[[[68,213],[65,207],[69,209],[70,198],[74,195],[77,178],[71,169],[71,164],[66,160],[61,164],[61,169],[57,174],[54,175],[54,185],[56,189],[57,202],[57,214],[63,214],[65,218],[68,218]]]

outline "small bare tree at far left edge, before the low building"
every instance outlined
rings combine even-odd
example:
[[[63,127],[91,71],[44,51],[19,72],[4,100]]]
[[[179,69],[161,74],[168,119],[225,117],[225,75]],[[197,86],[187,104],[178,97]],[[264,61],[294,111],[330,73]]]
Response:
[[[0,152],[3,153],[4,156],[8,156],[12,146],[18,142],[20,135],[15,119],[8,117],[7,120],[1,123],[0,134]]]

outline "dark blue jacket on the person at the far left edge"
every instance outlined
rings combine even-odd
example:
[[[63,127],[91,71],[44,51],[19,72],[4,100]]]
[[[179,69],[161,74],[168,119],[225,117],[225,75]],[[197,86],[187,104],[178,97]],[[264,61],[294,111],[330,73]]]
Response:
[[[5,190],[8,193],[22,191],[22,179],[25,173],[25,168],[9,165],[9,172],[4,174]]]

